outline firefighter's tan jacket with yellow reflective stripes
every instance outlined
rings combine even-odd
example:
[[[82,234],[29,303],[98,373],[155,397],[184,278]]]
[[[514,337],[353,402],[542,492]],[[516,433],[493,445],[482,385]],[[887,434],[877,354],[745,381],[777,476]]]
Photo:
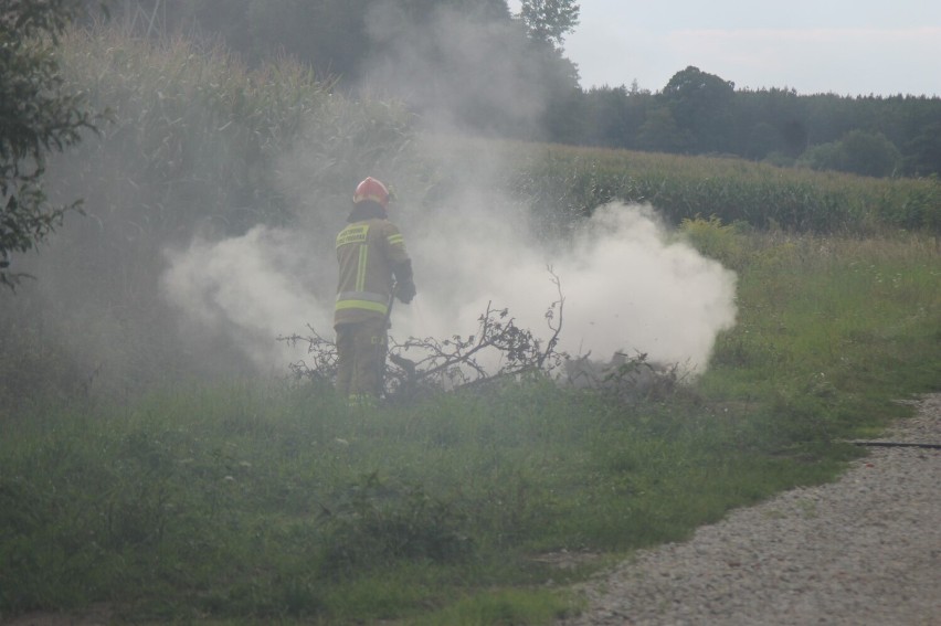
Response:
[[[402,233],[389,220],[368,219],[337,235],[340,265],[334,325],[385,317],[394,279],[412,282],[412,263]]]

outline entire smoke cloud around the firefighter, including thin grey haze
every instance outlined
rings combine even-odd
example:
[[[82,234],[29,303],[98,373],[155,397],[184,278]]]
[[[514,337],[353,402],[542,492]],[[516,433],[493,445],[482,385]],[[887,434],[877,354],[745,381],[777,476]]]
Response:
[[[307,335],[308,325],[332,337],[334,237],[356,183],[374,176],[401,199],[391,219],[405,235],[419,289],[410,306],[395,306],[394,338],[473,335],[488,306],[508,308],[518,327],[548,338],[544,315],[560,297],[554,275],[564,297],[561,350],[600,361],[644,352],[701,371],[717,333],[734,323],[734,274],[669,232],[653,206],[599,208],[571,231],[547,227],[554,208],[503,195],[499,181],[516,166],[486,144],[468,148],[448,125],[490,110],[538,124],[548,91],[538,82],[540,61],[501,46],[511,38],[500,29],[514,26],[461,21],[444,9],[416,25],[397,18],[395,2],[377,6],[392,11],[371,22],[385,24],[374,33],[387,38],[379,42],[385,54],[366,73],[362,93],[395,82],[398,93],[413,95],[425,132],[411,134],[406,117],[390,116],[382,103],[373,119],[371,100],[327,98],[293,148],[272,144],[276,162],[266,157],[251,170],[264,177],[260,200],[252,184],[235,189],[244,180],[220,176],[240,171],[233,162],[244,144],[222,141],[199,102],[173,100],[194,114],[194,125],[212,121],[210,132],[194,126],[175,136],[182,152],[199,149],[181,171],[126,131],[137,129],[149,100],[123,103],[120,128],[51,163],[55,188],[85,198],[88,214],[67,220],[42,255],[18,259],[41,279],[3,303],[0,319],[41,328],[35,336],[50,353],[68,357],[56,362],[72,363],[62,378],[94,392],[284,373],[303,353],[278,337]],[[135,76],[127,79],[134,86]],[[184,141],[191,135],[209,139],[193,146]],[[290,214],[275,217],[282,201]],[[36,361],[38,378],[44,367]]]

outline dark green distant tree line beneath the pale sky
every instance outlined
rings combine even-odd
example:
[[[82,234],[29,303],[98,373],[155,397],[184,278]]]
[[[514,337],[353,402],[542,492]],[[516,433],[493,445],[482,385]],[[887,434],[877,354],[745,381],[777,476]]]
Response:
[[[657,93],[582,92],[559,140],[688,155],[729,155],[863,176],[941,173],[941,98],[736,89],[697,67]]]

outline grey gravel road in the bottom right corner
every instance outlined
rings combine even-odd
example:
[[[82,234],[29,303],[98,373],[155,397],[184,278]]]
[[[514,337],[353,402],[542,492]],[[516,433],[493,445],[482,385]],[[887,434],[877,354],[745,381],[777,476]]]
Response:
[[[880,441],[941,444],[941,394]],[[869,448],[836,482],[700,528],[577,588],[582,625],[941,625],[941,449]]]

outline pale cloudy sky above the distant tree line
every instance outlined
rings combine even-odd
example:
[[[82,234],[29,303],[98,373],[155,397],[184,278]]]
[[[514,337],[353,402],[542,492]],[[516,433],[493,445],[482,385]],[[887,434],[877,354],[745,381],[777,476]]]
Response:
[[[581,0],[583,88],[657,92],[694,65],[736,88],[941,96],[939,0]],[[519,0],[510,0],[514,12]]]

